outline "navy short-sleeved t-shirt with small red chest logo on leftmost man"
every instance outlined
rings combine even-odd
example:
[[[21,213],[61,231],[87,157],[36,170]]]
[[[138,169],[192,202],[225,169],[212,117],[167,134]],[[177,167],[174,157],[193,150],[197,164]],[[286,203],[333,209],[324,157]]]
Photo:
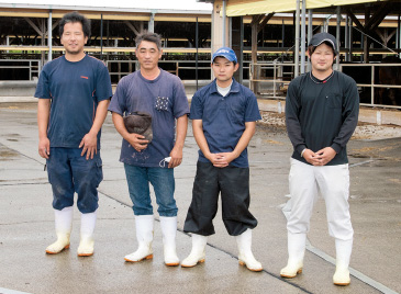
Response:
[[[52,99],[47,137],[51,147],[78,148],[93,125],[98,103],[112,97],[105,65],[86,55],[77,63],[65,56],[47,63],[41,72],[35,97]],[[98,149],[100,149],[98,133]]]

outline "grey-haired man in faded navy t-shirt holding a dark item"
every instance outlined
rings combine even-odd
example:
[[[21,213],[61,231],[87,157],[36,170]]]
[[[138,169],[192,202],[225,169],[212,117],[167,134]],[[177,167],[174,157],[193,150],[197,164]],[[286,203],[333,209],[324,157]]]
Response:
[[[188,99],[181,80],[158,67],[160,36],[145,32],[135,42],[141,69],[120,80],[109,108],[114,126],[123,137],[120,161],[124,163],[130,197],[134,204],[138,242],[138,249],[125,256],[125,260],[136,262],[153,258],[152,183],[160,216],[165,263],[178,265],[174,168],[182,161]],[[152,116],[152,142],[143,135],[129,133],[124,124],[124,116],[140,113]]]

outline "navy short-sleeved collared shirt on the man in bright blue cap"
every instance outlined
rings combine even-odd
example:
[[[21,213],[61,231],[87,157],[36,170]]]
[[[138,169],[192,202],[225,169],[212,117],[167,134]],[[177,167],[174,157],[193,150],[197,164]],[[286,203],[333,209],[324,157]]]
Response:
[[[255,94],[233,79],[230,92],[222,97],[216,80],[197,91],[191,101],[191,120],[202,120],[203,134],[212,154],[231,152],[245,131],[246,122],[260,120]],[[210,162],[199,150],[199,161]],[[247,168],[248,154],[245,148],[230,165]]]

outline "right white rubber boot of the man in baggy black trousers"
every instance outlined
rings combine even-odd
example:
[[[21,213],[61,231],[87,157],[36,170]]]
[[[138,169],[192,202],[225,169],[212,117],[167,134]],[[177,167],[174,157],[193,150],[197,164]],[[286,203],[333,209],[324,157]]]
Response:
[[[245,230],[240,236],[235,237],[238,245],[238,261],[241,265],[245,265],[249,271],[259,272],[264,268],[257,261],[252,252],[252,229]]]

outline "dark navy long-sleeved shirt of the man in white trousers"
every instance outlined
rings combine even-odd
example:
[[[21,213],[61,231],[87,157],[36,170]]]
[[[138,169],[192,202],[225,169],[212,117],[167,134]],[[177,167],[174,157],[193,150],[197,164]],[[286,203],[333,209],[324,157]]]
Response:
[[[355,81],[343,72],[334,71],[326,82],[310,72],[297,77],[288,87],[286,124],[293,145],[292,158],[301,157],[304,148],[318,151],[332,147],[336,156],[327,166],[348,162],[346,144],[353,135],[359,114],[359,94]]]

